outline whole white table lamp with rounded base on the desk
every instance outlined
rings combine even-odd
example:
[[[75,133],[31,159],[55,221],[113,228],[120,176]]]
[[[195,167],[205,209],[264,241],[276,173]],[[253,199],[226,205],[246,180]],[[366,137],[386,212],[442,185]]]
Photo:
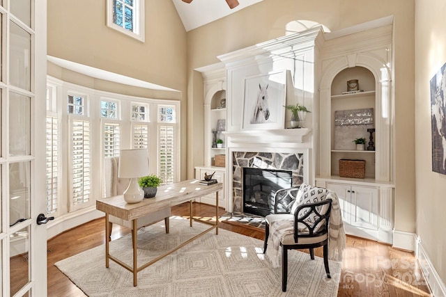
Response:
[[[146,175],[148,175],[147,150],[121,150],[118,177],[130,178],[130,183],[123,193],[125,202],[137,203],[144,199],[144,191],[138,184],[138,178]]]

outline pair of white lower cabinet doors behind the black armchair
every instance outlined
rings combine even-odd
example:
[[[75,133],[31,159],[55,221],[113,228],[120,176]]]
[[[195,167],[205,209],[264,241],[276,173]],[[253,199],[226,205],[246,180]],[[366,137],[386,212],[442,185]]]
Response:
[[[338,195],[345,223],[355,227],[378,230],[378,189],[369,186],[327,183]]]

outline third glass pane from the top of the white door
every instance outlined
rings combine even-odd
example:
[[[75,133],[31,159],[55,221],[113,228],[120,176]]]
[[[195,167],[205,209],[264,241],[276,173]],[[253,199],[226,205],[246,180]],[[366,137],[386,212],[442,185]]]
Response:
[[[9,154],[27,156],[31,152],[31,98],[9,93]]]

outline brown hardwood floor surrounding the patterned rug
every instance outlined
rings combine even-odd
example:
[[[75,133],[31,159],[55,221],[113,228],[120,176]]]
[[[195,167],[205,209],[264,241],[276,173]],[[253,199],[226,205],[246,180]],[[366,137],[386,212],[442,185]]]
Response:
[[[224,214],[221,209],[221,214]],[[173,207],[172,215],[187,216],[189,204]],[[215,208],[194,204],[194,216],[212,217]],[[68,230],[48,241],[48,296],[85,296],[54,263],[84,250],[105,243],[105,219],[100,218]],[[220,223],[225,230],[263,240],[264,232],[250,227]],[[130,230],[114,226],[112,240]],[[302,250],[307,252],[305,250]],[[315,250],[322,257],[322,248]],[[332,275],[332,277],[335,277]],[[339,276],[338,276],[339,277]],[[397,250],[391,246],[366,239],[347,236],[340,275],[338,296],[431,296],[421,275],[413,252]]]

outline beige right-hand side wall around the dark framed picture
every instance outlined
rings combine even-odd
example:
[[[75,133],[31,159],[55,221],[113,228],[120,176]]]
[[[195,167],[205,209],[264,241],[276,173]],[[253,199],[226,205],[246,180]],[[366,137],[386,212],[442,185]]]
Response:
[[[446,175],[432,171],[429,81],[446,63],[443,0],[416,0],[415,15],[415,168],[417,234],[429,259],[446,282]]]

